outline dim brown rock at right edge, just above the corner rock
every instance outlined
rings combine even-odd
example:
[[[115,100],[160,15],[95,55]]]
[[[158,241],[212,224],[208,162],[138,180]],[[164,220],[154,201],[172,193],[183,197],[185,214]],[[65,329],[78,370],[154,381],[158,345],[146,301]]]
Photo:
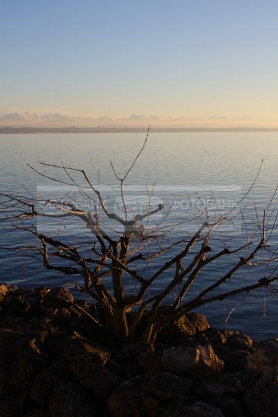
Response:
[[[247,368],[267,375],[278,366],[278,338],[271,338],[256,345],[255,352],[247,359]]]

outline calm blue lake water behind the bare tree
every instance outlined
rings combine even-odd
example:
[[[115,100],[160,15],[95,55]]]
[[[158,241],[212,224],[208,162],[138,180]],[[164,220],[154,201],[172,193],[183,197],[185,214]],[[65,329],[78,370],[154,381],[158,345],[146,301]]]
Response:
[[[54,164],[62,161],[67,166],[85,169],[92,179],[97,179],[100,169],[101,184],[113,184],[115,178],[111,172],[110,160],[113,160],[119,173],[124,172],[144,139],[145,136],[141,133],[2,135],[0,189],[8,193],[26,194],[25,186],[36,192],[37,187],[44,185],[46,181],[32,172],[26,163],[38,166],[37,161]],[[246,206],[247,227],[252,228],[254,202],[260,212],[278,182],[278,133],[152,133],[140,162],[129,178],[129,184],[151,186],[155,182],[159,190],[158,198],[169,201],[183,187],[185,190],[196,188],[201,195],[202,189],[204,194],[210,188],[218,189],[227,202],[229,190],[234,189],[236,193],[230,195],[233,199],[240,199],[245,194],[256,177],[262,158],[264,163],[259,179],[243,203]],[[44,172],[50,174],[51,170],[47,168]],[[272,206],[277,211],[276,198]],[[236,243],[243,240],[244,230],[240,231],[240,225],[243,227],[241,223],[241,218],[237,218],[237,231],[233,232]],[[30,242],[26,234],[13,229],[6,222],[0,224],[0,229],[0,246]],[[179,235],[182,236],[181,231]],[[272,243],[277,242],[277,236],[278,233],[275,232]],[[222,241],[215,245],[216,250],[222,249]],[[228,266],[226,263],[215,265],[206,275],[201,274],[188,296],[193,297],[197,291],[218,278],[220,272]],[[29,288],[44,284],[63,284],[73,288],[76,279],[46,271],[21,252],[0,251],[0,268],[0,281]],[[153,268],[151,265],[147,273],[150,274]],[[259,279],[260,274],[261,268],[252,269],[247,276],[240,272],[225,290],[240,284],[250,284]],[[156,284],[156,288],[163,288],[165,279],[169,278],[163,277]],[[226,323],[229,312],[235,306],[236,309]],[[252,295],[247,295],[244,300],[240,296],[225,302],[215,302],[204,306],[201,311],[213,326],[240,329],[255,338],[278,336],[278,298],[267,290],[259,289]]]

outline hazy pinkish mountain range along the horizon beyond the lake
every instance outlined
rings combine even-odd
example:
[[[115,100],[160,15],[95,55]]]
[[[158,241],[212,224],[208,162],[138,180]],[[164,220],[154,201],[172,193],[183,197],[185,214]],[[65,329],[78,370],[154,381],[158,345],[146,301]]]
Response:
[[[61,113],[15,112],[0,114],[1,133],[70,133],[146,131],[276,131],[278,123],[241,117],[158,117],[133,114],[128,117],[85,117]]]

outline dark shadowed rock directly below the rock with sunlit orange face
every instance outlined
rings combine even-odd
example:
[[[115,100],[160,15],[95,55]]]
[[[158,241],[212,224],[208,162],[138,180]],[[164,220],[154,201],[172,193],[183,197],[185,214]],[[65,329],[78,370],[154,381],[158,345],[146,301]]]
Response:
[[[154,371],[147,373],[142,381],[142,388],[159,400],[177,400],[188,395],[193,382],[189,378],[177,377],[166,372]]]

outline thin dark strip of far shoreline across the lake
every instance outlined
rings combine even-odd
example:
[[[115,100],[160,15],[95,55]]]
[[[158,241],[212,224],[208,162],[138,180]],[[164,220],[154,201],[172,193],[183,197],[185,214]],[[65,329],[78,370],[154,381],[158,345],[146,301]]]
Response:
[[[0,126],[2,134],[30,134],[30,133],[146,133],[143,127],[15,127]],[[278,127],[154,127],[153,133],[202,133],[202,132],[277,132]]]

